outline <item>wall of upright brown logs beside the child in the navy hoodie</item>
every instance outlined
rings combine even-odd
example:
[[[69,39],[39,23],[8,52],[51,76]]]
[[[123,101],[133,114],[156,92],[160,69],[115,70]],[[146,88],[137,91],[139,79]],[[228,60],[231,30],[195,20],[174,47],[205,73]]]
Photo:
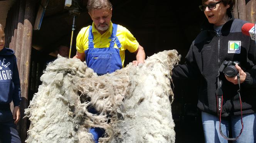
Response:
[[[27,118],[24,109],[28,107],[28,87],[30,78],[30,54],[32,48],[32,33],[37,0],[17,0],[9,10],[6,20],[6,45],[15,51],[19,68],[22,101],[20,104],[20,121],[17,129],[22,143],[27,138]]]

